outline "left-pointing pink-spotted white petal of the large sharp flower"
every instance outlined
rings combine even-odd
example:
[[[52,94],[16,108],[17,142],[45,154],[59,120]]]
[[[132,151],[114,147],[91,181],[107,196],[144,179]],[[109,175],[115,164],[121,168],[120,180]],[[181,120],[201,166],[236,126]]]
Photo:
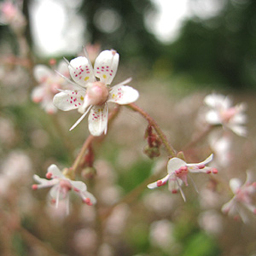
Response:
[[[84,94],[84,90],[62,90],[54,96],[53,103],[63,111],[76,109],[83,105]]]

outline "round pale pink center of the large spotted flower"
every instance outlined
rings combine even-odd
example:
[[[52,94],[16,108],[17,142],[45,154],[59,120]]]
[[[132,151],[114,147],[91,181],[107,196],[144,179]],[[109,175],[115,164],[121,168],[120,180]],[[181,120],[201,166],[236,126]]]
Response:
[[[108,87],[102,82],[94,82],[88,86],[86,97],[90,105],[101,106],[108,100]]]

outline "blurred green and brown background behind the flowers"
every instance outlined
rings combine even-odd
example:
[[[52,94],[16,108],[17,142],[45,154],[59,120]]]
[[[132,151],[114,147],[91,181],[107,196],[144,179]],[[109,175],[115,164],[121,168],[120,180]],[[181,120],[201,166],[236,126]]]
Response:
[[[3,1],[1,2],[3,3]],[[165,131],[177,150],[201,130],[198,116],[212,91],[247,103],[248,136],[230,133],[228,166],[219,177],[245,180],[256,172],[256,2],[254,0],[26,0],[15,1],[25,15],[24,31],[0,26],[0,253],[13,255],[254,256],[255,217],[249,224],[225,216],[229,190],[209,177],[184,189],[187,202],[166,187],[129,194],[167,154],[143,154],[147,122],[122,108],[108,136],[93,144],[96,177],[89,181],[98,204],[73,198],[65,215],[47,203],[47,189],[32,191],[32,175],[44,177],[52,163],[73,164],[87,121],[68,129],[79,113],[50,115],[31,99],[37,86],[32,69],[49,60],[67,60],[116,49],[114,82],[132,77],[137,104]],[[93,59],[93,56],[92,56]],[[217,131],[221,132],[222,128]],[[191,162],[212,152],[204,138],[185,151]],[[214,152],[215,153],[215,152]],[[218,152],[217,152],[218,153]],[[215,162],[218,165],[218,162]],[[83,177],[80,177],[83,178]],[[87,182],[87,181],[86,181]],[[123,201],[104,221],[106,211]]]

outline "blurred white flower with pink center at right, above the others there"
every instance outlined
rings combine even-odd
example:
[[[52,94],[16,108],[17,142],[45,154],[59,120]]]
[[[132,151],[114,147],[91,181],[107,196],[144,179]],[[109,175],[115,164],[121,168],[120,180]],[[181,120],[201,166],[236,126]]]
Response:
[[[247,135],[247,129],[244,126],[247,121],[244,103],[233,107],[228,96],[214,93],[206,96],[204,102],[210,108],[206,113],[206,120],[210,125],[223,125],[224,128],[229,128],[239,136]]]

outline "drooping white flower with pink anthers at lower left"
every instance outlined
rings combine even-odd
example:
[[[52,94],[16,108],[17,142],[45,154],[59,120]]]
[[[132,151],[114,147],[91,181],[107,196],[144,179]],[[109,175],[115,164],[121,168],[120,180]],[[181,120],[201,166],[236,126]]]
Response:
[[[38,177],[38,175],[34,175],[33,177],[39,184],[33,184],[32,189],[51,187],[49,190],[49,198],[51,202],[55,203],[55,207],[58,207],[59,201],[65,200],[67,214],[69,212],[69,192],[71,191],[74,191],[79,195],[82,198],[82,201],[89,206],[96,203],[96,198],[87,191],[85,183],[69,179],[55,165],[49,166],[48,172],[46,173],[48,179]]]

